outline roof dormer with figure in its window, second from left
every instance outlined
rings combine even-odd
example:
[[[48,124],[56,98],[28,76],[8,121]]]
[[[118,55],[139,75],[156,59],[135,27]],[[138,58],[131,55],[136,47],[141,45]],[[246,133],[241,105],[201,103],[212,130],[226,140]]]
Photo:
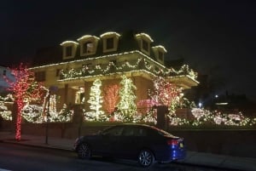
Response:
[[[80,44],[80,55],[88,56],[90,54],[96,54],[99,37],[85,35],[78,39]]]

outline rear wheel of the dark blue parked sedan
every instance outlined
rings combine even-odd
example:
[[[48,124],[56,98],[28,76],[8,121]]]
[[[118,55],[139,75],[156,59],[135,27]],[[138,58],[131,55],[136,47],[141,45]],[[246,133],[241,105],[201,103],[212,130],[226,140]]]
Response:
[[[142,150],[138,156],[138,162],[144,168],[148,168],[154,164],[154,154],[149,150]]]

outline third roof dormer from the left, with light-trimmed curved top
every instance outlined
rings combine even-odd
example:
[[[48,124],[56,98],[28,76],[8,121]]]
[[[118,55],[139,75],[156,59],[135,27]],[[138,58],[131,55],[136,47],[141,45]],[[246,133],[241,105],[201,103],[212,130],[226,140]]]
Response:
[[[103,53],[117,51],[119,44],[119,33],[106,32],[100,36],[103,42]]]

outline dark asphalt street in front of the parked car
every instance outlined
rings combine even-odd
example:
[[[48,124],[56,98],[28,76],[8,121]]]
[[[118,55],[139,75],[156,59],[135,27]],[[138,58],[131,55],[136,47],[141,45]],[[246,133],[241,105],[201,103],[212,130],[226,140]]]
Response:
[[[89,161],[80,160],[72,151],[62,151],[47,148],[31,147],[1,143],[0,170],[12,171],[86,171],[86,170],[145,170],[137,162],[126,160],[110,160],[95,157]],[[201,168],[195,166],[182,166],[177,163],[156,163],[152,171],[227,171],[219,168]]]

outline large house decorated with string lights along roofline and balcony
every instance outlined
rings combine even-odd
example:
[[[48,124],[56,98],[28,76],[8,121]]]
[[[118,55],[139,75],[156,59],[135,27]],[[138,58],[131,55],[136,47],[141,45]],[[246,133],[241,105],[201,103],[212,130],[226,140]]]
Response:
[[[57,108],[72,104],[90,111],[87,100],[96,78],[102,82],[102,95],[105,86],[119,84],[122,76],[131,78],[137,87],[136,103],[148,99],[148,89],[153,88],[156,77],[165,77],[184,89],[197,86],[196,72],[189,66],[179,70],[166,67],[166,53],[166,48],[146,33],[105,32],[41,49],[30,69],[38,82],[58,88]],[[105,105],[102,110],[106,110]]]

